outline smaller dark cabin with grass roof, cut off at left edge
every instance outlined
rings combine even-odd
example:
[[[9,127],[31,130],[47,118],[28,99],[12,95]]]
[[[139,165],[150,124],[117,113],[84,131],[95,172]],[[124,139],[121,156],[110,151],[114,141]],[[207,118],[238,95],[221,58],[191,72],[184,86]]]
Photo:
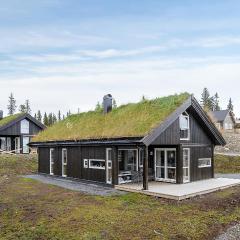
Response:
[[[0,111],[0,150],[29,153],[28,143],[43,129],[45,126],[29,114],[18,113],[3,118],[3,111]]]

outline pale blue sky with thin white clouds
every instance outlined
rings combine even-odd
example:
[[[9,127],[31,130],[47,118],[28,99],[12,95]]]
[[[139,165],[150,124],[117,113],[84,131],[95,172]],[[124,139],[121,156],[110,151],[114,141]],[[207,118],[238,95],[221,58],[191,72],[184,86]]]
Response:
[[[238,0],[0,0],[0,109],[86,111],[207,87],[240,117]]]

